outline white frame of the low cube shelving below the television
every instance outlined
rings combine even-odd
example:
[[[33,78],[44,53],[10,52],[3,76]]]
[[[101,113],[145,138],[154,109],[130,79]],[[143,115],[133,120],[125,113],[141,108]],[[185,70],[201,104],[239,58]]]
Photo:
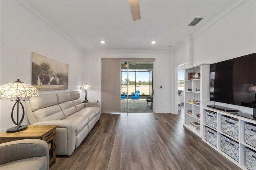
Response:
[[[205,114],[204,112],[208,110],[208,111],[213,111],[217,113],[217,129],[210,127],[208,125],[205,124]],[[221,131],[221,119],[222,116],[226,115],[229,117],[233,117],[238,119],[238,123],[239,123],[239,139],[236,139],[224,132]],[[209,144],[210,146],[212,146],[212,148],[214,148],[215,150],[217,150],[220,154],[222,154],[223,156],[225,156],[226,158],[228,158],[228,160],[230,160],[231,162],[233,162],[234,164],[236,164],[237,166],[239,166],[240,168],[242,168],[243,170],[248,170],[246,168],[246,153],[245,153],[245,147],[251,148],[252,150],[256,151],[256,148],[254,148],[253,146],[250,146],[249,144],[246,144],[244,142],[244,127],[245,127],[245,123],[253,123],[256,124],[256,121],[252,120],[252,119],[247,119],[244,117],[240,117],[237,115],[233,115],[231,113],[227,113],[227,112],[223,112],[220,110],[216,110],[216,109],[212,109],[209,107],[203,107],[203,114],[201,115],[201,119],[202,119],[202,124],[203,124],[203,128],[202,128],[202,140],[204,142],[206,142],[207,144]],[[211,129],[214,129],[217,131],[217,148],[215,146],[213,146],[212,144],[210,144],[208,141],[205,140],[205,127],[209,127]],[[236,142],[239,143],[239,162],[237,162],[236,160],[234,160],[233,158],[231,158],[230,156],[228,156],[226,153],[224,153],[221,148],[220,148],[220,136],[221,134],[235,140]]]

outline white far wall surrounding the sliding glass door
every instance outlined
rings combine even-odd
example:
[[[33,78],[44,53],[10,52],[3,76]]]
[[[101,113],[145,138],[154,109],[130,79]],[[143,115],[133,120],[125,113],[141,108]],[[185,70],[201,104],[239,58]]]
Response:
[[[89,100],[100,100],[102,57],[156,58],[154,62],[154,111],[171,112],[171,54],[168,51],[86,51],[84,81],[92,86]],[[162,89],[160,89],[162,85]],[[162,104],[161,104],[162,102]]]

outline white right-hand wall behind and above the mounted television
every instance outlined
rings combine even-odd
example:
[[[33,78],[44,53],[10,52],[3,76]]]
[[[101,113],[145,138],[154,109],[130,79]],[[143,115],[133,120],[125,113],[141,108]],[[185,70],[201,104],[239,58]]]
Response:
[[[216,63],[256,52],[256,1],[250,0],[193,39],[193,65]],[[186,60],[186,48],[173,52],[174,63]],[[183,57],[182,59],[180,57]],[[252,113],[252,109],[225,105]]]

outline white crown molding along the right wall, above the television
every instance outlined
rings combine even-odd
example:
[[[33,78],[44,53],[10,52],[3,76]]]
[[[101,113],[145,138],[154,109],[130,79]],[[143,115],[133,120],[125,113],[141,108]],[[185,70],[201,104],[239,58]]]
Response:
[[[207,24],[205,24],[200,30],[198,30],[197,32],[195,32],[192,35],[192,39],[198,37],[200,34],[202,34],[203,32],[205,32],[206,30],[208,30],[209,28],[211,28],[212,26],[214,26],[216,23],[218,23],[220,20],[224,19],[226,16],[228,16],[229,14],[231,14],[232,12],[234,12],[236,9],[238,9],[240,6],[244,5],[246,2],[248,2],[249,0],[236,0],[234,3],[232,3],[230,6],[228,6],[225,10],[223,10],[222,12],[220,12],[220,14],[218,14],[216,17],[214,17],[212,20],[210,20],[210,22],[208,22]],[[173,51],[175,52],[176,50],[178,50],[180,47],[182,47],[187,40],[187,38],[185,38],[180,44],[178,44],[176,47],[174,47]]]

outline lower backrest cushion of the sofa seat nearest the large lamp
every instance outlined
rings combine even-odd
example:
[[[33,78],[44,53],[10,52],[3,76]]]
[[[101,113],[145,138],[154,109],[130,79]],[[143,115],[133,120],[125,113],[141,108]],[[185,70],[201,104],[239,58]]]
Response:
[[[65,118],[59,105],[39,109],[37,111],[34,111],[33,114],[38,122],[62,120]]]

